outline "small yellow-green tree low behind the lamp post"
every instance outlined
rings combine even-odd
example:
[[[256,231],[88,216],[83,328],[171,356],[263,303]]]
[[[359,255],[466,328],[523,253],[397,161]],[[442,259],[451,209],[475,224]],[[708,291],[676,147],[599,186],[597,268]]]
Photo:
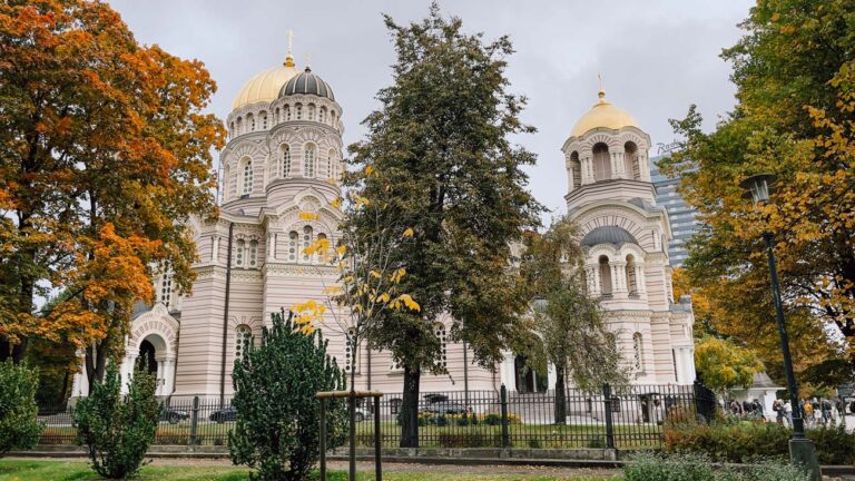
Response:
[[[734,387],[750,387],[754,374],[764,370],[750,350],[711,336],[696,344],[695,367],[706,385],[725,396]]]

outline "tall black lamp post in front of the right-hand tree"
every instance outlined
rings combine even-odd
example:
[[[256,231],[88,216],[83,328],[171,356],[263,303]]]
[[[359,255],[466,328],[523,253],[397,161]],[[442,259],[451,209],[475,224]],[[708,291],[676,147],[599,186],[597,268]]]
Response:
[[[743,197],[750,198],[755,205],[769,202],[775,176],[772,174],[759,174],[743,180],[739,186],[746,193]],[[796,375],[793,372],[793,357],[789,354],[789,336],[787,335],[787,325],[784,321],[784,306],[780,302],[780,285],[778,284],[778,269],[775,264],[775,244],[770,232],[763,233],[763,240],[766,243],[766,252],[769,258],[769,276],[772,277],[772,297],[775,303],[775,320],[778,324],[778,334],[780,335],[780,350],[784,354],[784,372],[787,375],[787,390],[789,391],[789,402],[793,405],[793,436],[789,440],[789,459],[794,464],[799,464],[810,473],[812,481],[819,481],[822,473],[819,463],[816,459],[816,446],[814,442],[805,436],[805,422],[802,418],[802,408],[798,403],[798,385]]]

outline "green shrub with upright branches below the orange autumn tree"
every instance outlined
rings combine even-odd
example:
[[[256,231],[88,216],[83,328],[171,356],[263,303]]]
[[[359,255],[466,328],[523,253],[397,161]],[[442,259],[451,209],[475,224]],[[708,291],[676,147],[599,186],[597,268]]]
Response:
[[[122,479],[142,467],[160,420],[155,389],[153,374],[136,371],[122,399],[121,376],[116,364],[110,363],[104,382],[96,382],[89,397],[77,403],[77,444],[86,449],[98,474]]]

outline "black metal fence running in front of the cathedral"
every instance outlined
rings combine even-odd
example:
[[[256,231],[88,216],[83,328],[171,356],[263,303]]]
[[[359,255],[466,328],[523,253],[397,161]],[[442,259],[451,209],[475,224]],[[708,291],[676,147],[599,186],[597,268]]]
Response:
[[[375,425],[384,446],[401,443],[403,395],[380,400],[380,423],[373,400],[356,410],[356,445],[373,446]],[[557,404],[564,410],[557,412]],[[43,444],[73,443],[70,409],[42,409]],[[422,448],[618,448],[661,445],[670,423],[715,415],[716,397],[694,385],[606,385],[597,392],[568,389],[517,393],[454,391],[421,393],[419,445]],[[559,418],[557,419],[557,414]],[[563,414],[563,416],[561,416]],[[156,444],[226,445],[237,412],[230,400],[177,397],[164,401]]]

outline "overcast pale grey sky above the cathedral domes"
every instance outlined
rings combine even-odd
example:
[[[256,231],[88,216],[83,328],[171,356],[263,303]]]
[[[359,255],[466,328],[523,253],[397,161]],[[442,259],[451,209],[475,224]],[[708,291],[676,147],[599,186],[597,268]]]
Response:
[[[285,59],[294,31],[298,67],[311,56],[344,109],[345,145],[364,135],[362,119],[377,107],[376,91],[391,82],[393,45],[381,12],[397,22],[428,13],[430,1],[394,0],[115,0],[137,39],[205,62],[218,91],[212,110],[225,119],[237,91],[255,73]],[[597,100],[597,75],[607,98],[639,121],[653,143],[668,144],[669,118],[697,104],[706,128],[734,106],[730,67],[723,48],[740,37],[747,0],[473,1],[444,0],[468,32],[509,35],[512,90],[529,98],[523,120],[538,128],[518,140],[538,154],[530,188],[563,213],[567,176],[561,145]]]

